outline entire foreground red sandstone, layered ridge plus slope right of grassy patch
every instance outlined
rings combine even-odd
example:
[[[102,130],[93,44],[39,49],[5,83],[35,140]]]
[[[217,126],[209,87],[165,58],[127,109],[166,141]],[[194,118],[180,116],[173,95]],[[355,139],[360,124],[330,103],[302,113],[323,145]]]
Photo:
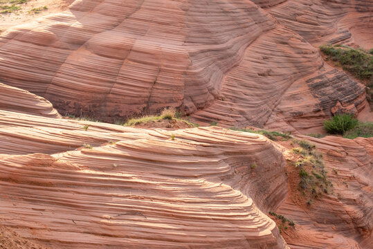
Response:
[[[284,147],[257,134],[0,114],[1,224],[30,243],[286,248],[265,215],[275,210],[295,221],[290,248],[372,246],[371,138],[303,137],[334,185],[304,208]]]

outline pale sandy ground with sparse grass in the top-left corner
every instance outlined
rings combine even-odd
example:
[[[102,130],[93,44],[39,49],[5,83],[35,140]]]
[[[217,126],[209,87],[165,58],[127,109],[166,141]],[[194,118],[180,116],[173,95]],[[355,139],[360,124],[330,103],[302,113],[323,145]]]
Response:
[[[0,13],[0,33],[12,26],[66,10],[73,1],[74,0],[30,0],[28,3],[20,4],[21,10],[7,14]],[[44,6],[46,6],[47,9],[44,9]],[[38,13],[30,12],[33,8],[39,7],[42,8],[42,11]]]

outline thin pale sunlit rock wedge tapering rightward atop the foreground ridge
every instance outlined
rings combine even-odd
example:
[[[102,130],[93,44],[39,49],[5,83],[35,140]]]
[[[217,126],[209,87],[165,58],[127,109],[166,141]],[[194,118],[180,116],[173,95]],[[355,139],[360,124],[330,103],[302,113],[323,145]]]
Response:
[[[165,138],[151,130],[0,111],[0,154],[53,154],[84,144],[98,146],[105,142],[148,138],[148,134]]]

